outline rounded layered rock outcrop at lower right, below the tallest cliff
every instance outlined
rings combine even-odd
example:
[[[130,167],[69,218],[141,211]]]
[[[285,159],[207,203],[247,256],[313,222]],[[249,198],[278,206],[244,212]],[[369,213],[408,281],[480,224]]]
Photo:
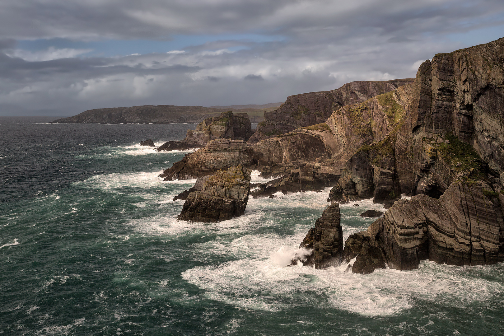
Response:
[[[384,218],[348,238],[345,261],[356,258],[352,271],[363,274],[385,263],[411,270],[425,259],[454,265],[503,261],[504,195],[490,189],[454,182],[439,199],[400,199]]]

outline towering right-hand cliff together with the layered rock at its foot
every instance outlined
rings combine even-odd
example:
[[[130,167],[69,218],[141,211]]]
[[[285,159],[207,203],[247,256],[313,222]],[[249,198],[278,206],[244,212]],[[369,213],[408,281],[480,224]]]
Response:
[[[352,155],[330,200],[415,196],[347,239],[353,272],[504,260],[503,98],[504,38],[436,54],[393,92],[403,116]]]

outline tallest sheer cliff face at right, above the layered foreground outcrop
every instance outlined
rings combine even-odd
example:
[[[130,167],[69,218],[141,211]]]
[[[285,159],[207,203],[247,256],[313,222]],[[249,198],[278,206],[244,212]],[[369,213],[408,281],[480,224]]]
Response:
[[[366,133],[372,134],[374,143],[362,147],[347,162],[331,200],[363,198],[373,193],[375,201],[381,202],[398,192],[438,198],[457,179],[483,179],[494,190],[501,188],[504,113],[499,101],[504,97],[503,53],[504,39],[499,39],[437,54],[424,62],[413,84],[391,93],[401,106],[402,116],[392,130],[383,128],[391,141],[385,162],[384,153],[375,150],[380,147],[377,141],[381,136],[376,137],[376,127],[371,127]],[[368,106],[370,110],[375,108]],[[338,133],[345,131],[340,129]],[[352,133],[356,135],[354,129]],[[377,181],[377,174],[386,177],[385,188]],[[376,188],[393,194],[384,198],[374,192]]]

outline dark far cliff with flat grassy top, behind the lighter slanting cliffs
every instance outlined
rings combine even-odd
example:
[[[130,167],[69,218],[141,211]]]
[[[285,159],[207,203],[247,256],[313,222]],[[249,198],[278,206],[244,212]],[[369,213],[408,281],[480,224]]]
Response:
[[[299,127],[323,123],[334,110],[342,106],[362,103],[371,97],[393,91],[412,82],[413,79],[383,82],[357,81],[347,83],[332,91],[290,96],[277,110],[265,111],[264,121],[258,124],[257,132],[248,142],[255,144]]]

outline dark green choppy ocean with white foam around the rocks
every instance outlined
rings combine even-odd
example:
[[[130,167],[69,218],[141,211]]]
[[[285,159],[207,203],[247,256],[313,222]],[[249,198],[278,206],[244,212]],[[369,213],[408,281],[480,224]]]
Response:
[[[287,266],[330,188],[250,198],[245,215],[177,221],[187,152],[140,147],[195,124],[0,117],[0,334],[498,335],[504,264],[370,275]],[[252,181],[263,179],[253,172]],[[382,205],[341,206],[346,239]]]

